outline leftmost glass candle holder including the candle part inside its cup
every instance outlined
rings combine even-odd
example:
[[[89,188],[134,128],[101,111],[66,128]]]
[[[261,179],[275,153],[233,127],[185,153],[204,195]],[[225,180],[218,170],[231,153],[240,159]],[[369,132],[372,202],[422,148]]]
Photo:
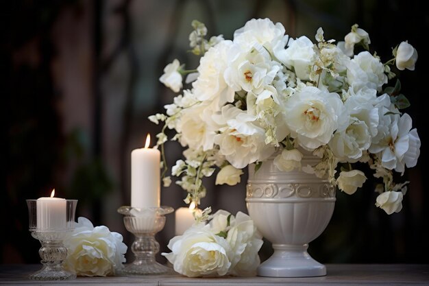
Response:
[[[65,200],[65,204],[54,206],[49,211],[49,206],[38,204],[37,200],[27,200],[29,231],[42,245],[39,249],[42,269],[30,274],[30,279],[47,281],[76,278],[76,274],[62,267],[62,261],[67,256],[67,248],[62,241],[73,231],[76,205],[77,200]]]

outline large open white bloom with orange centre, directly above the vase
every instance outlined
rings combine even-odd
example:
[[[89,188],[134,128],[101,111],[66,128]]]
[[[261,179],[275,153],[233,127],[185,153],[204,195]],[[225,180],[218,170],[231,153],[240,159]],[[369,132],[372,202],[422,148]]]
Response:
[[[291,136],[307,150],[315,150],[332,138],[343,114],[338,94],[306,86],[286,102],[284,117]]]

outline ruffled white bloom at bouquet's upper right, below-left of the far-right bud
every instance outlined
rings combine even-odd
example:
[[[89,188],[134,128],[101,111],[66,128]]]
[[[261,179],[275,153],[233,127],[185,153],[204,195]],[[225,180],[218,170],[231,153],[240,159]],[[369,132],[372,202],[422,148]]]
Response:
[[[347,83],[354,91],[365,86],[381,91],[382,85],[387,84],[382,62],[368,51],[358,53],[347,65]]]

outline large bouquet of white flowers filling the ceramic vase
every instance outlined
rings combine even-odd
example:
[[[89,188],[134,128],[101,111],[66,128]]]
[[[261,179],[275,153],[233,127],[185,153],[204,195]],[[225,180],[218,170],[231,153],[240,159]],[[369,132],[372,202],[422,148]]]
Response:
[[[358,25],[337,44],[325,40],[321,28],[315,43],[306,36],[291,38],[269,19],[248,21],[232,40],[222,35],[206,40],[205,25],[192,25],[189,39],[201,56],[199,66],[185,70],[175,59],[160,78],[176,93],[183,75],[191,85],[165,106],[165,115],[149,117],[164,123],[157,135],[162,153],[168,140],[186,147],[184,160],[171,169],[188,192],[185,202],[199,204],[206,195],[202,179],[216,169],[216,184],[234,185],[247,165],[258,169],[277,154],[278,169],[328,178],[348,194],[367,180],[358,169],[366,163],[382,181],[376,206],[388,214],[401,210],[408,182],[396,184],[393,171],[404,174],[414,167],[421,143],[411,117],[400,111],[409,102],[399,80],[387,84],[395,73],[414,70],[412,45],[400,43],[383,63],[368,51],[369,34]],[[357,46],[362,51],[355,54]],[[172,138],[167,128],[175,131]],[[302,166],[302,149],[321,162]],[[167,169],[164,160],[164,175]],[[170,182],[164,176],[164,185]]]

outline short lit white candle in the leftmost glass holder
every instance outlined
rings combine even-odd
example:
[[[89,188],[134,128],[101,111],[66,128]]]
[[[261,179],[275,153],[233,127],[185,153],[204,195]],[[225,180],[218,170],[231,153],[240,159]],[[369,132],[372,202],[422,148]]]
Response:
[[[38,198],[36,201],[36,228],[38,230],[63,230],[66,228],[66,199],[51,197]]]

